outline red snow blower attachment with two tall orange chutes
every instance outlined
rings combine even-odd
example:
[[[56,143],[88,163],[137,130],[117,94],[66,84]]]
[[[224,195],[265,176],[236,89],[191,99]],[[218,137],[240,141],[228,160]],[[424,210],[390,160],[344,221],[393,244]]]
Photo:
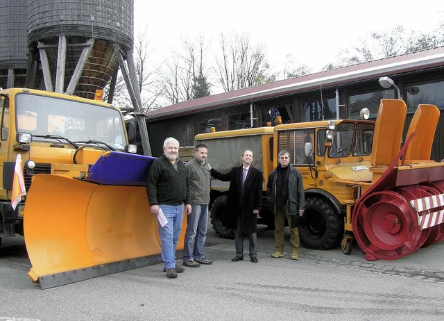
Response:
[[[407,107],[382,99],[375,124],[373,184],[352,211],[353,234],[368,261],[395,260],[444,238],[444,163],[430,160],[434,105],[419,105],[401,147]]]

